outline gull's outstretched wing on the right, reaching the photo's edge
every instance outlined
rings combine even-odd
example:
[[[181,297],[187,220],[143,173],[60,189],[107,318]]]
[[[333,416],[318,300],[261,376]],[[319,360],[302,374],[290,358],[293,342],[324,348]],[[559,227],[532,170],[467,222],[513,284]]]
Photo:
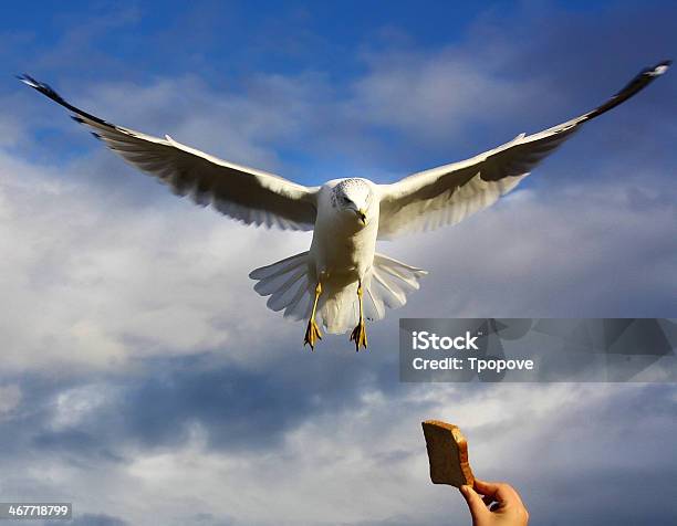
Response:
[[[580,126],[627,101],[667,71],[670,61],[648,67],[597,108],[471,159],[414,173],[381,186],[378,239],[456,224],[512,190]]]

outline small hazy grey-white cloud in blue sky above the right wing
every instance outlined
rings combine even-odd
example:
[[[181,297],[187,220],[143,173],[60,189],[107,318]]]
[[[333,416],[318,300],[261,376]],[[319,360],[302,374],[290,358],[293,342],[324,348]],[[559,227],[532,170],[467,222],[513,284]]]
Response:
[[[497,73],[496,60],[454,48],[367,56],[369,70],[353,86],[351,109],[368,125],[399,129],[420,143],[449,145],[477,126],[518,116],[544,92],[534,78],[509,80]]]

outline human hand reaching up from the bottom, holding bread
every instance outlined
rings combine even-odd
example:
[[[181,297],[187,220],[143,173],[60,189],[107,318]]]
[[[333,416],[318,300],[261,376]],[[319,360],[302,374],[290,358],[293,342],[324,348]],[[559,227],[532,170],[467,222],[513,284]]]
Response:
[[[472,526],[527,526],[529,523],[529,512],[509,484],[476,478],[475,488],[461,486],[460,492],[470,508]]]

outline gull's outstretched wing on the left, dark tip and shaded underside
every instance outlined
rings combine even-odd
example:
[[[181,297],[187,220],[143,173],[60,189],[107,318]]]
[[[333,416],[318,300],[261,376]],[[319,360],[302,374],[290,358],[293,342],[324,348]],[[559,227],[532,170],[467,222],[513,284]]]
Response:
[[[312,230],[317,188],[308,188],[264,171],[227,162],[181,145],[107,123],[69,104],[49,85],[29,75],[19,77],[52,101],[73,112],[113,151],[135,167],[157,177],[178,196],[190,196],[200,206],[211,204],[247,224]]]

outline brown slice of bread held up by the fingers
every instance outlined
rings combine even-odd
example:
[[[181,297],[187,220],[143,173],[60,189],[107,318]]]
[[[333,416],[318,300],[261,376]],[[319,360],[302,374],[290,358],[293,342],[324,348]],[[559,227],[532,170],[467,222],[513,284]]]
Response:
[[[472,486],[475,476],[468,463],[468,442],[460,429],[438,420],[427,420],[423,428],[433,483]]]

